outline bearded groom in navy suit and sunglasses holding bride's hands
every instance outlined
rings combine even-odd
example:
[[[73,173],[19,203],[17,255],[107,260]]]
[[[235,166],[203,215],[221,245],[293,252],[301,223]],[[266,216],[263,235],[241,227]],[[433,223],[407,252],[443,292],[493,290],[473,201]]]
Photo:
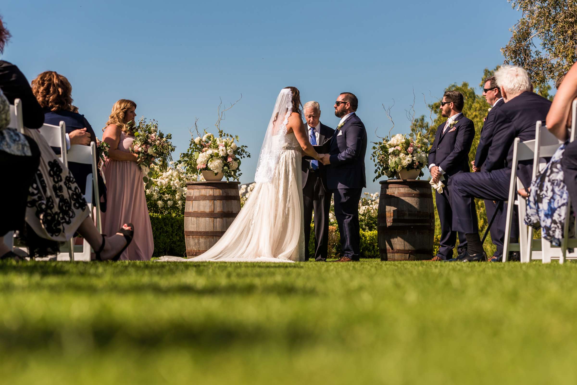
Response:
[[[336,262],[358,261],[361,256],[359,201],[366,187],[366,130],[355,114],[358,99],[343,92],[335,101],[340,118],[331,139],[331,150],[322,161],[327,167],[327,185],[335,196],[335,217],[339,224],[342,256]]]

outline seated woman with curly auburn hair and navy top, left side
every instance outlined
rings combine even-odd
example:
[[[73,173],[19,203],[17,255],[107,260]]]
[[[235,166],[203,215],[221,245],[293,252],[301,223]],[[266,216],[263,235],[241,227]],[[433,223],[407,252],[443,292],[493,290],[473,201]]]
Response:
[[[66,147],[70,145],[89,146],[96,135],[84,115],[78,114],[78,108],[72,105],[72,86],[68,79],[55,71],[44,71],[32,81],[32,92],[44,111],[44,123],[58,126],[61,120],[66,123]],[[59,148],[53,148],[59,154]],[[69,162],[68,168],[80,190],[86,191],[86,177],[92,173],[92,166]]]

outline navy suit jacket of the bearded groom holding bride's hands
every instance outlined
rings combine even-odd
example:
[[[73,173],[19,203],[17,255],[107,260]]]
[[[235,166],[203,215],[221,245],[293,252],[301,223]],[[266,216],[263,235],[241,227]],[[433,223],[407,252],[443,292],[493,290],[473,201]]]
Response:
[[[366,130],[354,112],[333,134],[329,154],[327,184],[330,190],[366,187]]]

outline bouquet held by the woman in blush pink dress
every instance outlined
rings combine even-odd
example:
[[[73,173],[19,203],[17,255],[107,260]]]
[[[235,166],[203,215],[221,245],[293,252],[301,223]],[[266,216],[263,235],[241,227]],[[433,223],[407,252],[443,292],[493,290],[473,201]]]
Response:
[[[166,170],[168,162],[173,160],[172,153],[176,149],[170,139],[171,134],[162,133],[158,129],[158,122],[152,119],[147,122],[143,117],[138,120],[130,130],[134,133],[133,146],[130,152],[138,155],[138,164],[145,173],[143,180],[146,188],[152,184],[152,171],[149,171],[151,165],[158,166],[161,170]]]

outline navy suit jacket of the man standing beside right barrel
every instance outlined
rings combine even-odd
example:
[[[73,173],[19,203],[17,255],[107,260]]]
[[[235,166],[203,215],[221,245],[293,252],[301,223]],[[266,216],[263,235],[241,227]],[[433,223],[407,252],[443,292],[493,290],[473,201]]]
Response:
[[[437,127],[433,146],[429,152],[429,164],[443,169],[445,185],[451,184],[451,176],[469,172],[469,150],[475,138],[475,124],[463,113],[456,116],[457,123],[443,134],[445,122]]]

